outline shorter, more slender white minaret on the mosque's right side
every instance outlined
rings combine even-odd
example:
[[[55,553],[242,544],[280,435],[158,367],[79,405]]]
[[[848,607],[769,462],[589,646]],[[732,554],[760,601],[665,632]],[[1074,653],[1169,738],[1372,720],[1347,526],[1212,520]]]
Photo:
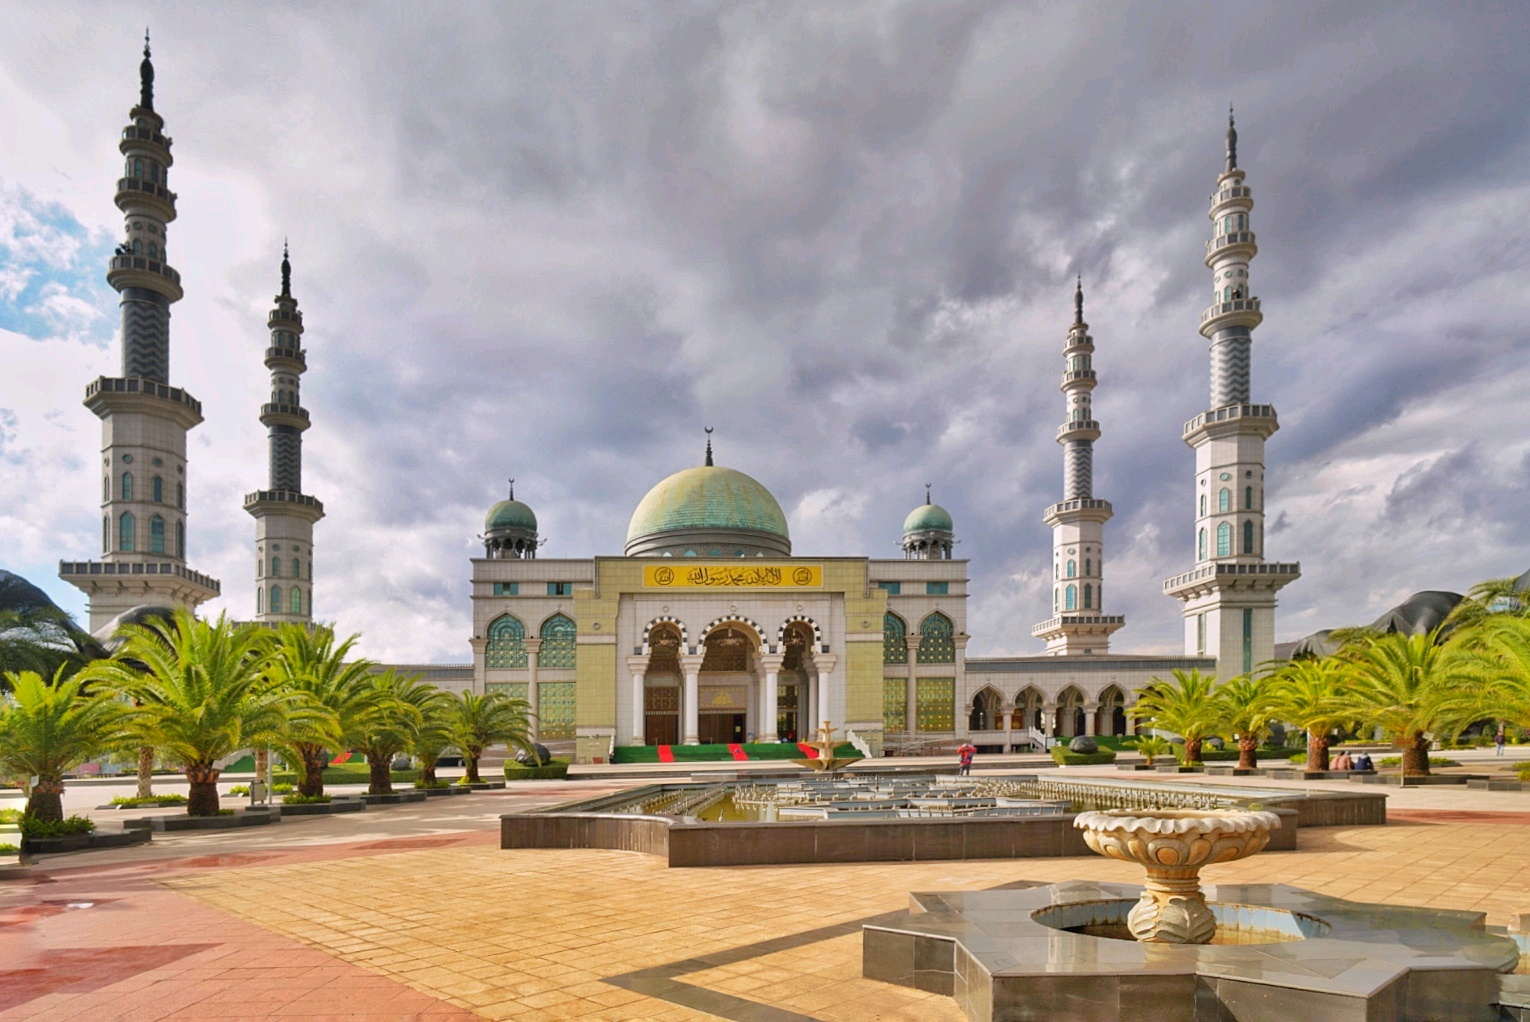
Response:
[[[1062,444],[1062,502],[1042,520],[1053,531],[1053,615],[1031,629],[1047,641],[1048,656],[1106,653],[1111,633],[1126,624],[1105,614],[1105,523],[1111,502],[1094,499],[1094,441],[1100,424],[1089,407],[1094,392],[1094,338],[1083,321],[1083,278],[1073,292],[1073,327],[1062,349],[1062,393],[1066,419],[1057,427]]]

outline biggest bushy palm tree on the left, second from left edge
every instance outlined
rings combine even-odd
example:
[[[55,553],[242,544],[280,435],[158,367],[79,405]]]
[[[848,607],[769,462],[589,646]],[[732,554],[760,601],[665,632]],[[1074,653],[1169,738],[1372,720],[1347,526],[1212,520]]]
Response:
[[[121,633],[125,641],[112,659],[96,661],[81,676],[138,704],[133,722],[141,744],[162,750],[185,771],[190,815],[217,814],[220,759],[321,718],[306,699],[266,681],[266,629],[234,624],[228,615],[199,621],[182,607],[156,627],[125,624]]]

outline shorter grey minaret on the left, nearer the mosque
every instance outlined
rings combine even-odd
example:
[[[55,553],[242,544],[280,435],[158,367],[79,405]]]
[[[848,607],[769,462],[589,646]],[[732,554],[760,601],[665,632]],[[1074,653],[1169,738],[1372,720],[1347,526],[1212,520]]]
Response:
[[[298,379],[308,369],[303,350],[303,314],[292,297],[292,263],[282,246],[282,294],[266,317],[271,346],[271,401],[260,405],[268,430],[269,487],[245,494],[245,511],[256,519],[256,620],[314,620],[314,523],[324,505],[303,493],[303,430],[308,408]]]

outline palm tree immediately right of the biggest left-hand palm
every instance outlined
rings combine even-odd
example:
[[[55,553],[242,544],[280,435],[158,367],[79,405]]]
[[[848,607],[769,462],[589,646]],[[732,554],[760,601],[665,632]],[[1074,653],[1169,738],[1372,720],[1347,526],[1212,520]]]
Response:
[[[283,692],[301,693],[309,704],[324,710],[306,724],[288,728],[280,747],[298,763],[298,793],[308,797],[324,794],[324,766],[330,750],[341,751],[347,734],[355,733],[367,708],[369,678],[375,666],[369,659],[346,662],[358,635],[337,641],[327,624],[312,630],[301,624],[283,624],[271,650],[266,673],[272,685]]]

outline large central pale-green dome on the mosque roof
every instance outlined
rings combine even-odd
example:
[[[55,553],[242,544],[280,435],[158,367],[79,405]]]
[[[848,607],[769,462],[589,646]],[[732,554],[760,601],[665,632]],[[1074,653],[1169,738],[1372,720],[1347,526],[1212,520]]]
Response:
[[[791,542],[770,490],[733,468],[685,468],[649,490],[632,513],[627,543],[659,532],[748,529]]]

